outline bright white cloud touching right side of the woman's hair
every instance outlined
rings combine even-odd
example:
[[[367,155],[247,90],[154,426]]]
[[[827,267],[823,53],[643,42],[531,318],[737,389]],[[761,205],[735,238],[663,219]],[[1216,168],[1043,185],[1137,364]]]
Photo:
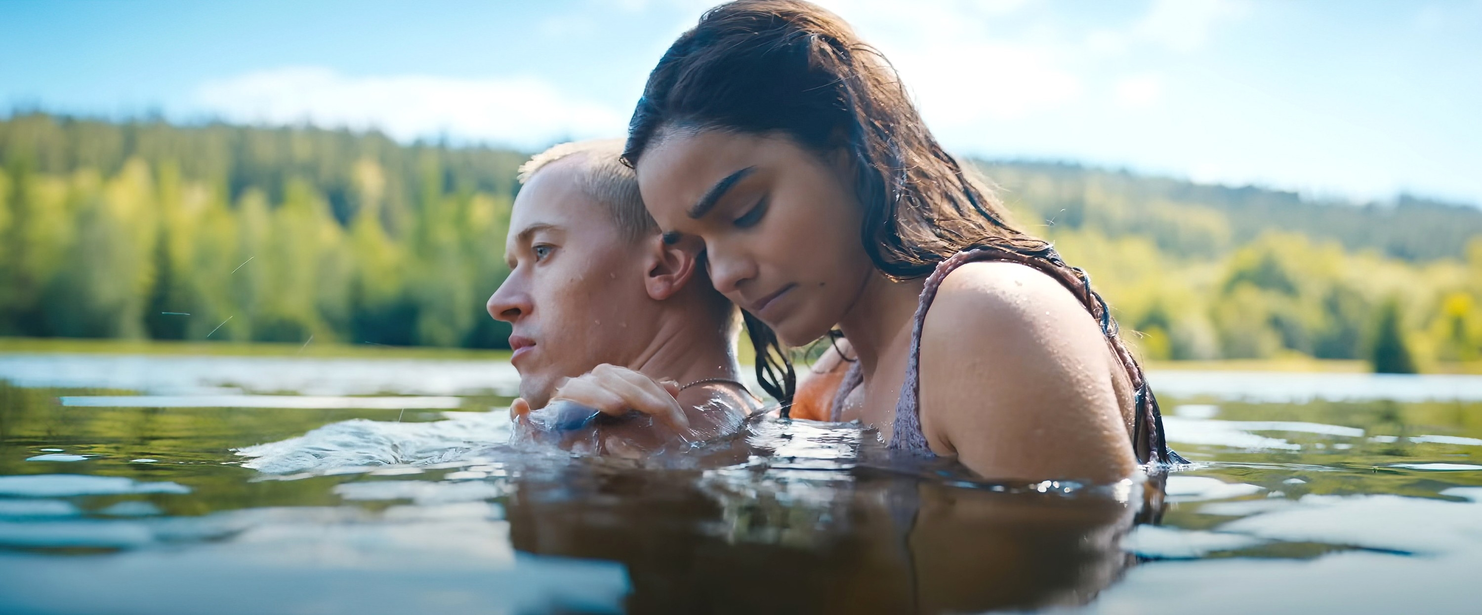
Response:
[[[1088,89],[1104,87],[1098,58],[1149,47],[1197,50],[1214,28],[1246,12],[1245,0],[1153,0],[1135,19],[1077,31],[1030,0],[825,4],[885,52],[934,127],[957,133],[1074,110],[1089,102],[1082,96]],[[1165,83],[1157,74],[1131,74],[1110,84],[1112,99],[1147,108],[1162,99]]]

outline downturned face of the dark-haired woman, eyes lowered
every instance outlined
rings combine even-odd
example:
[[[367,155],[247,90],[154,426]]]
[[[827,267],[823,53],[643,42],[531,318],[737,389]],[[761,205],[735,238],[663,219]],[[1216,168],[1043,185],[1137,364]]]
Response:
[[[873,273],[842,156],[824,160],[785,136],[668,132],[637,176],[667,237],[704,240],[716,290],[784,344],[827,333]]]

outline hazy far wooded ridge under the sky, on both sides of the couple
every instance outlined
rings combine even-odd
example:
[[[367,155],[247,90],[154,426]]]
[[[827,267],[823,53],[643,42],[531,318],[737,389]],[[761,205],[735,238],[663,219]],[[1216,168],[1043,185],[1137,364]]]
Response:
[[[280,202],[286,179],[299,178],[323,193],[341,222],[359,207],[357,160],[375,159],[387,170],[382,216],[396,224],[428,190],[511,196],[517,190],[514,169],[526,156],[486,147],[403,145],[375,132],[314,127],[111,123],[46,114],[0,120],[0,166],[15,172],[70,173],[86,167],[111,175],[129,159],[169,162],[184,178],[224,188],[228,202],[253,188]],[[1482,234],[1482,209],[1411,196],[1352,205],[1070,163],[977,164],[1003,188],[1023,224],[1054,221],[1113,237],[1150,236],[1174,255],[1214,256],[1263,231],[1282,230],[1335,239],[1350,250],[1377,249],[1406,261],[1430,261],[1463,256],[1466,243]],[[430,169],[436,176],[428,175]]]

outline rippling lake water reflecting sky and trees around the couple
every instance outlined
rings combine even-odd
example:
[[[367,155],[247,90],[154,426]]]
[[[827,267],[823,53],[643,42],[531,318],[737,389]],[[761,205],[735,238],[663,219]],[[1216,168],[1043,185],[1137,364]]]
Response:
[[[991,485],[756,419],[507,446],[474,360],[0,354],[0,612],[1473,614],[1482,378],[1154,372],[1190,468]]]

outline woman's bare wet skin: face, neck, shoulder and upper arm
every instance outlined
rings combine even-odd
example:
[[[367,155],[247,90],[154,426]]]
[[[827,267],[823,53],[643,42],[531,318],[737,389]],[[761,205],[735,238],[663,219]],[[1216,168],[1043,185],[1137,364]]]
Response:
[[[891,437],[923,280],[892,282],[860,243],[854,169],[781,135],[667,130],[637,163],[665,237],[698,237],[714,287],[791,345],[839,326],[864,368],[843,419]],[[1131,390],[1091,314],[1029,267],[974,262],[922,329],[922,430],[994,479],[1114,482],[1137,461]]]

